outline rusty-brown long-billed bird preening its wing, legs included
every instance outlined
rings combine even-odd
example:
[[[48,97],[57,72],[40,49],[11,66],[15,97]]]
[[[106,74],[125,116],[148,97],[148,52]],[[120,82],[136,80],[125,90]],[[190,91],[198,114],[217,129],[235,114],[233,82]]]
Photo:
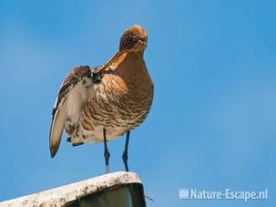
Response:
[[[144,60],[147,45],[146,29],[131,26],[120,37],[118,52],[106,64],[75,67],[66,75],[52,112],[49,133],[52,158],[65,131],[73,146],[104,142],[108,173],[107,141],[126,134],[122,160],[128,171],[130,131],[144,122],[153,102],[154,85]]]

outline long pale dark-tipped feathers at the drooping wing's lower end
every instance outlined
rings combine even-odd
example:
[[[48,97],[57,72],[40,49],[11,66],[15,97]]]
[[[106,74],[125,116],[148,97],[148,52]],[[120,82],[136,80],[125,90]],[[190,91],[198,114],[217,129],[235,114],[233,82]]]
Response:
[[[56,151],[58,150],[65,123],[66,123],[65,110],[56,109],[53,115],[51,129],[50,129],[50,136],[49,136],[49,147],[50,147],[52,158],[55,157]]]

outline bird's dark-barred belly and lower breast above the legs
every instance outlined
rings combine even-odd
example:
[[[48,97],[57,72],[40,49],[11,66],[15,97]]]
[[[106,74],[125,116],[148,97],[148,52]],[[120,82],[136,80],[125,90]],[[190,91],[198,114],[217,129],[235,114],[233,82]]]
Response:
[[[101,142],[104,128],[107,140],[114,140],[138,127],[148,116],[153,97],[152,86],[140,86],[143,84],[128,86],[118,77],[105,78],[97,88],[96,96],[83,110],[80,125],[70,136],[71,141]]]

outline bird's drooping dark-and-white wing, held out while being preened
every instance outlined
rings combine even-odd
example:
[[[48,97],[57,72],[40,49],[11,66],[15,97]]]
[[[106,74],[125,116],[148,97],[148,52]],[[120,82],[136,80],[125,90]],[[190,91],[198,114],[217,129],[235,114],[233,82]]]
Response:
[[[66,75],[59,88],[56,104],[52,112],[49,135],[51,157],[56,155],[66,120],[72,127],[79,124],[82,109],[87,100],[95,95],[96,85],[92,81],[90,67],[75,67]]]

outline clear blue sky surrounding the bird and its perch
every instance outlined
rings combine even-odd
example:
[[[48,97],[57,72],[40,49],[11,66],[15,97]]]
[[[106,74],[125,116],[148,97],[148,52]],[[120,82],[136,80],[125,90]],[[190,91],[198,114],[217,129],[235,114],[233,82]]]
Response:
[[[133,24],[148,30],[155,84],[132,132],[129,168],[149,207],[273,206],[276,149],[274,1],[0,2],[0,201],[104,173],[103,146],[61,143],[50,158],[57,89],[75,66],[103,64]],[[125,139],[109,143],[123,171]],[[180,201],[179,188],[269,190],[268,201]]]

